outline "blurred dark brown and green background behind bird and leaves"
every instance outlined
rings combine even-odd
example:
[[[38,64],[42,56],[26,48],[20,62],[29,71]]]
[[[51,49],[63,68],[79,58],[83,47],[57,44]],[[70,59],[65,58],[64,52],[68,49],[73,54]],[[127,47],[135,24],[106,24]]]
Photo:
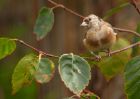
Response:
[[[84,16],[94,13],[103,17],[109,9],[126,0],[54,1]],[[137,1],[139,2],[139,0]],[[33,27],[38,11],[43,6],[52,7],[47,0],[0,0],[0,37],[19,38],[38,49],[55,55],[70,52],[87,53],[82,44],[84,36],[83,29],[80,27],[82,20],[61,8],[54,11],[55,24],[53,30],[45,39],[36,40]],[[135,30],[139,19],[140,16],[134,7],[129,5],[107,21],[116,27]],[[120,36],[131,40],[127,33],[120,33]],[[32,52],[31,49],[18,44],[12,55],[0,60],[0,99],[62,99],[72,95],[61,81],[57,70],[50,83],[39,85],[33,82],[32,85],[22,88],[16,95],[11,95],[11,75],[14,67],[25,54],[30,52]],[[121,75],[117,75],[110,82],[107,82],[96,69],[93,70],[92,77],[88,88],[97,93],[101,99],[125,99]]]

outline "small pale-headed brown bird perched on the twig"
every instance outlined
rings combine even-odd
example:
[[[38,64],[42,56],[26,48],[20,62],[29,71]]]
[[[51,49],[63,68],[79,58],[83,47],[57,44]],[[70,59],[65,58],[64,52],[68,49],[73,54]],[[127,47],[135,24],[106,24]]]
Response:
[[[83,44],[89,52],[98,60],[101,59],[99,52],[107,52],[110,56],[110,48],[115,44],[117,36],[111,24],[90,14],[83,19],[81,26],[86,27]]]

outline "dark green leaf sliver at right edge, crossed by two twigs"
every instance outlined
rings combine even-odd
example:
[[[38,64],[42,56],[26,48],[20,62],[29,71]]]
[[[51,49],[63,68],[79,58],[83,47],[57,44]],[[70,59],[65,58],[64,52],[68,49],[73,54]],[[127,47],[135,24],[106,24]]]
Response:
[[[137,33],[140,33],[140,23],[137,25],[137,30],[136,30]],[[136,43],[140,41],[140,38],[137,37],[137,36],[134,36],[133,37],[133,41],[132,43]],[[134,57],[134,56],[137,56],[138,54],[140,54],[140,47],[139,46],[135,46],[132,48],[132,54],[131,56]]]

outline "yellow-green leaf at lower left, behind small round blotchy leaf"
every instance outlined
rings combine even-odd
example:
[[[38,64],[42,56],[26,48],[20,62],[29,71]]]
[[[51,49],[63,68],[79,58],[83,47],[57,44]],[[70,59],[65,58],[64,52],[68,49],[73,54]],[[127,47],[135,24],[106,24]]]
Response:
[[[18,62],[12,75],[13,94],[23,86],[31,84],[37,64],[38,58],[34,54],[26,55]]]

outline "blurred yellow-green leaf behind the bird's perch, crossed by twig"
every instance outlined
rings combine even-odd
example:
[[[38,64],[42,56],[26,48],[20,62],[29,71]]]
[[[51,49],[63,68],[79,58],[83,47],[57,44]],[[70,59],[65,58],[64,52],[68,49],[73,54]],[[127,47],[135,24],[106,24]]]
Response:
[[[129,42],[125,39],[119,38],[116,44],[113,45],[112,50],[117,50],[124,48],[129,45]],[[107,80],[110,80],[117,74],[120,74],[124,70],[124,66],[128,62],[131,54],[131,49],[120,52],[111,57],[104,58],[101,62],[98,63],[98,66],[106,77]]]

